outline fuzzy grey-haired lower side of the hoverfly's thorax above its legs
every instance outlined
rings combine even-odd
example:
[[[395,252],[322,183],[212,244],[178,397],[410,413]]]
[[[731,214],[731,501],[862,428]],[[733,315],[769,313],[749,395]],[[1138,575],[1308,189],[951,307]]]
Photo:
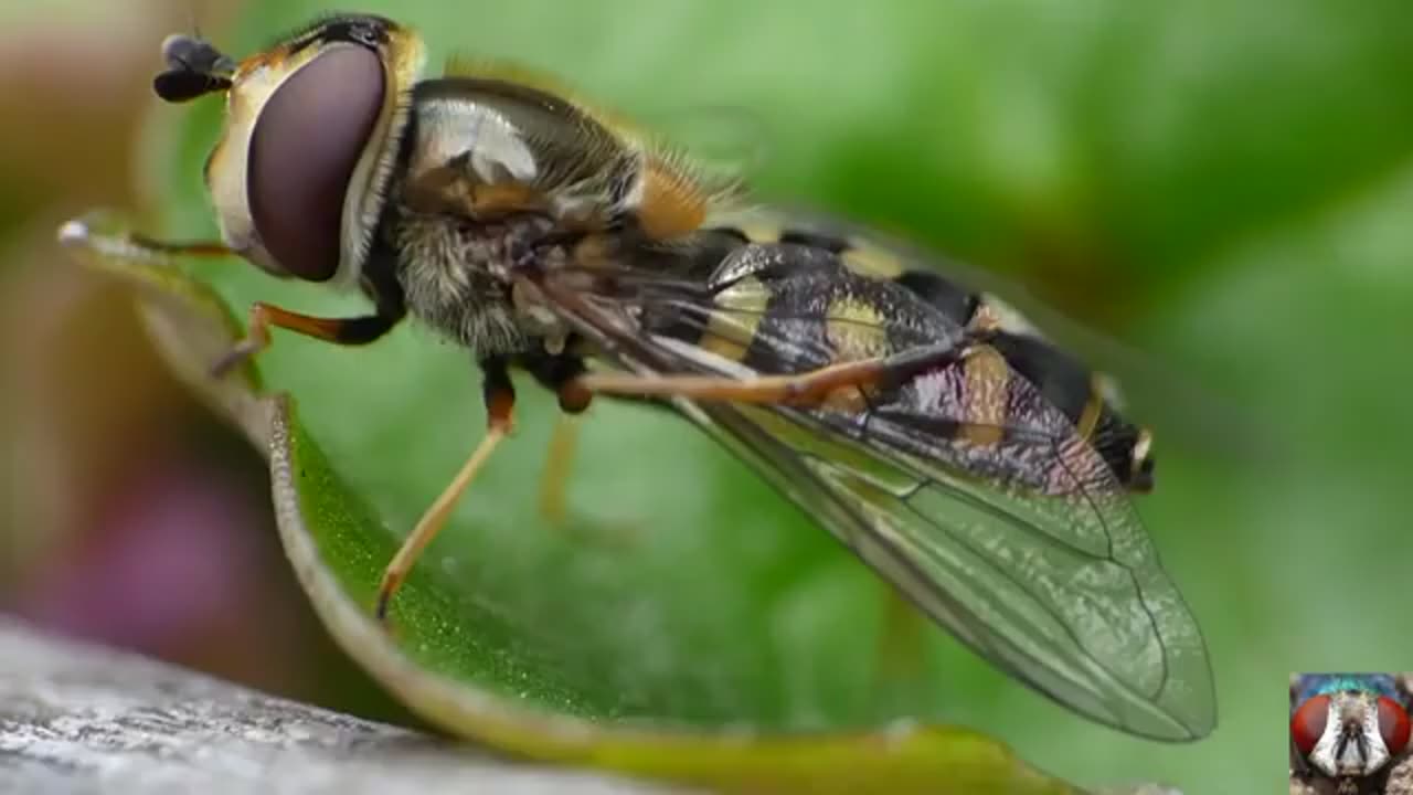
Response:
[[[550,225],[540,216],[475,222],[404,211],[394,236],[408,311],[478,358],[541,347],[533,324],[516,310],[509,273]]]

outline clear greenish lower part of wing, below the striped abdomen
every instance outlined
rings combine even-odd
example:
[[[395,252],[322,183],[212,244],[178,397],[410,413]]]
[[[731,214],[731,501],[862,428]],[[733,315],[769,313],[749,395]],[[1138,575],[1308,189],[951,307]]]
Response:
[[[746,460],[1012,676],[1145,737],[1191,740],[1215,724],[1202,638],[1132,509],[1077,508],[1092,488],[1036,498],[982,487],[810,413],[678,407],[738,453],[749,447]]]

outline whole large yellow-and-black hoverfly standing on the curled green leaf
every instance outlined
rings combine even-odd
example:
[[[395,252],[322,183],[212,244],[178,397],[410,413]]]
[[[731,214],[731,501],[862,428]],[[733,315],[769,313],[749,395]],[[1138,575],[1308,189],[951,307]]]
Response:
[[[205,164],[220,243],[372,311],[257,303],[229,371],[283,328],[363,345],[413,317],[471,349],[487,431],[389,563],[377,617],[512,426],[510,369],[565,412],[667,406],[935,622],[1070,709],[1163,740],[1215,723],[1197,624],[1129,502],[1150,437],[1102,379],[934,260],[749,209],[586,105],[495,69],[421,78],[422,44],[333,16],[243,61],[185,35],[157,93],[226,96]]]

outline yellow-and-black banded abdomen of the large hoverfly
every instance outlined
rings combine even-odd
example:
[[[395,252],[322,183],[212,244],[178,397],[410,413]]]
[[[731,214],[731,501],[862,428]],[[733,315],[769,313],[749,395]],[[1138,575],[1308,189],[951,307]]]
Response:
[[[1149,431],[1122,416],[1099,373],[1046,341],[999,298],[918,269],[916,257],[859,236],[759,219],[712,233],[718,245],[721,235],[746,245],[715,260],[714,276],[698,273],[709,284],[711,308],[690,324],[687,341],[756,372],[787,373],[951,335],[968,354],[934,385],[945,393],[934,399],[941,400],[941,413],[966,422],[934,430],[996,444],[1006,429],[1023,427],[1022,393],[1039,392],[1126,488],[1152,488]],[[698,262],[706,266],[712,259]],[[858,398],[870,405],[900,399]],[[858,399],[836,403],[862,406]]]

